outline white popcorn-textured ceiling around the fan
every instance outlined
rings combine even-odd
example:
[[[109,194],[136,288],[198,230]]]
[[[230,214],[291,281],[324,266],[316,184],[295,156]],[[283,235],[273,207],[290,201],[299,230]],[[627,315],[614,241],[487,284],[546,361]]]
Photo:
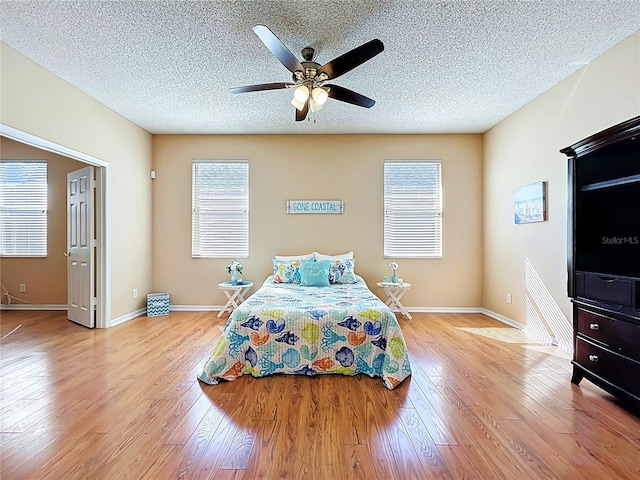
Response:
[[[385,50],[294,121],[291,74],[252,27],[324,64]],[[484,132],[640,28],[637,0],[0,1],[2,41],[151,133]]]

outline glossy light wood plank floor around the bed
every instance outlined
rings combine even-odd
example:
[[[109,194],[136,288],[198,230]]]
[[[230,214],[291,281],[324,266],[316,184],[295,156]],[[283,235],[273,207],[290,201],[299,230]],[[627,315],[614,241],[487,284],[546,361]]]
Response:
[[[88,330],[2,312],[0,477],[9,479],[638,479],[640,416],[570,379],[566,356],[401,320],[413,375],[195,378],[226,315]],[[484,331],[484,330],[482,330]],[[486,330],[491,332],[491,330]]]

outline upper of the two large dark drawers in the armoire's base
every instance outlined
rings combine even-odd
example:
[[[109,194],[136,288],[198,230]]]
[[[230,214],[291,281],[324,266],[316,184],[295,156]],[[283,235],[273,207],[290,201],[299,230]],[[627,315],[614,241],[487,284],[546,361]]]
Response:
[[[578,308],[577,333],[605,344],[614,352],[640,361],[640,325]]]

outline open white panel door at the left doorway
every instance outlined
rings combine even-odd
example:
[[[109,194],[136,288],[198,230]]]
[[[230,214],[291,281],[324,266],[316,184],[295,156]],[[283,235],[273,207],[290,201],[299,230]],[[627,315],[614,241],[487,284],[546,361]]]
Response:
[[[93,328],[94,292],[93,167],[67,174],[67,318]]]

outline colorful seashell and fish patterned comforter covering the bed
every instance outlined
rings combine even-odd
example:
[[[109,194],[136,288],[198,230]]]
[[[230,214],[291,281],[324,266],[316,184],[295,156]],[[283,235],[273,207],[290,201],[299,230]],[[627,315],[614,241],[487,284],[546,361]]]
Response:
[[[411,366],[395,315],[361,277],[304,287],[270,276],[233,311],[198,379],[214,385],[274,373],[365,373],[393,389]]]

